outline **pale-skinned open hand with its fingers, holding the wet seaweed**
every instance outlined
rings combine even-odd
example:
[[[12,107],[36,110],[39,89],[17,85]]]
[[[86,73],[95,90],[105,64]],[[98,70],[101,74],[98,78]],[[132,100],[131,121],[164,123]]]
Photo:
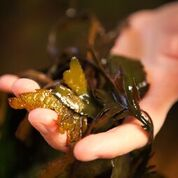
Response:
[[[122,30],[114,54],[139,58],[147,71],[151,85],[140,102],[154,124],[154,136],[163,125],[167,112],[178,100],[178,3],[159,9],[142,11],[130,16],[130,25]],[[35,91],[39,85],[30,79],[14,75],[0,77],[0,89],[21,93]],[[30,111],[28,120],[44,139],[57,150],[67,151],[66,134],[57,129],[57,114],[49,109]],[[81,161],[114,158],[143,147],[148,136],[135,118],[107,132],[89,135],[78,141],[74,156]]]

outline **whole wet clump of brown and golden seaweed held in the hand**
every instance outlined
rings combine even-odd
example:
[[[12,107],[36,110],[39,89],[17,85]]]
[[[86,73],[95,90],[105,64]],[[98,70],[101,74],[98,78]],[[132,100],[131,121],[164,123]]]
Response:
[[[67,143],[75,143],[88,134],[107,131],[132,116],[140,121],[141,127],[148,133],[148,146],[115,159],[83,163],[75,160],[72,152],[47,159],[47,153],[41,153],[44,143],[41,145],[37,142],[39,145],[36,149],[40,150],[37,153],[42,155],[39,160],[45,156],[45,161],[37,161],[36,171],[31,177],[157,176],[147,166],[154,130],[152,120],[139,106],[139,101],[149,89],[146,72],[139,60],[109,54],[116,36],[115,29],[106,32],[93,15],[74,13],[64,16],[49,35],[48,53],[52,64],[40,71],[19,73],[19,76],[36,80],[42,89],[10,98],[9,103],[16,109],[30,111],[43,107],[56,111],[59,133],[67,132]],[[23,122],[20,127],[23,128]],[[32,129],[18,130],[22,130],[18,132],[18,137],[23,138],[21,140],[26,142],[25,139],[31,139],[32,147],[36,146],[33,134],[30,134],[30,138],[23,137],[33,132]],[[71,151],[74,145],[70,145]],[[37,160],[38,156],[34,159]],[[31,169],[29,167],[28,173],[22,175],[28,177]]]

